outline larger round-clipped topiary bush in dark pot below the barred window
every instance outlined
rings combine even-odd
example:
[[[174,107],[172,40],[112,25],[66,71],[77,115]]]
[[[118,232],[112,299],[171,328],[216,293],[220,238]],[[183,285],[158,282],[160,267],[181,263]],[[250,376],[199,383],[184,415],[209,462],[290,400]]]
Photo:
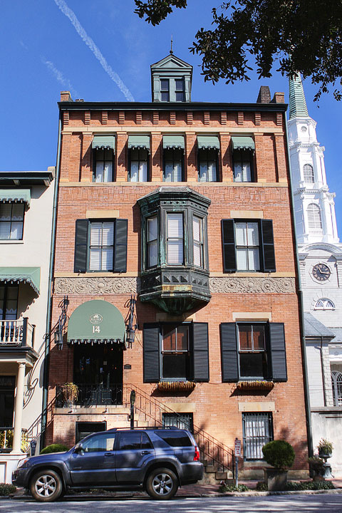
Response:
[[[285,440],[274,440],[262,447],[264,460],[274,468],[264,469],[269,490],[284,490],[287,483],[287,467],[294,465],[294,447]]]

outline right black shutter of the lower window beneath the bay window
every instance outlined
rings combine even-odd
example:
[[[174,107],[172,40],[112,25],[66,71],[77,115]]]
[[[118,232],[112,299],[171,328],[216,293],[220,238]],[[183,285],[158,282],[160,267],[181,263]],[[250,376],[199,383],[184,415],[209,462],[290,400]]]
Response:
[[[208,324],[192,324],[193,380],[209,381]]]

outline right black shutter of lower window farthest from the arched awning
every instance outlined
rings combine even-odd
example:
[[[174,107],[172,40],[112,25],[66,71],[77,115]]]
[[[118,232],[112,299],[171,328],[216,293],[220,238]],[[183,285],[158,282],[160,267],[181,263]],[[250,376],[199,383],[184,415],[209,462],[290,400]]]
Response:
[[[269,323],[269,348],[271,353],[271,379],[273,381],[287,381],[283,323]]]

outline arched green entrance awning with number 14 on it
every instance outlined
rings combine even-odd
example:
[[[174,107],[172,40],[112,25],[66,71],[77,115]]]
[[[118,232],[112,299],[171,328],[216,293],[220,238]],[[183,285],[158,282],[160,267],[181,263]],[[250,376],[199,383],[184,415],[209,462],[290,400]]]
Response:
[[[124,343],[125,321],[108,301],[86,301],[73,311],[68,323],[68,343]]]

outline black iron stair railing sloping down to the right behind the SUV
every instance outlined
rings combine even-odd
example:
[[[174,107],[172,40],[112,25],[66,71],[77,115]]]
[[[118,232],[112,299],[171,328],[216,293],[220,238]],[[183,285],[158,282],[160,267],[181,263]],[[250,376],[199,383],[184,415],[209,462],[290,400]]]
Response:
[[[127,384],[123,385],[123,405],[128,407],[130,405],[130,393],[135,391],[135,412],[139,414],[142,420],[148,422],[151,425],[154,423],[157,426],[164,425],[163,414],[172,414],[175,418],[179,418],[180,423],[184,424],[182,414],[175,412],[169,408],[165,403],[161,403],[155,398],[151,398],[150,395],[145,393],[135,385]],[[209,465],[216,465],[219,470],[231,471],[234,475],[234,451],[225,445],[220,440],[217,440],[208,432],[202,430],[201,427],[196,425],[189,426],[192,430],[201,459],[206,460]]]

